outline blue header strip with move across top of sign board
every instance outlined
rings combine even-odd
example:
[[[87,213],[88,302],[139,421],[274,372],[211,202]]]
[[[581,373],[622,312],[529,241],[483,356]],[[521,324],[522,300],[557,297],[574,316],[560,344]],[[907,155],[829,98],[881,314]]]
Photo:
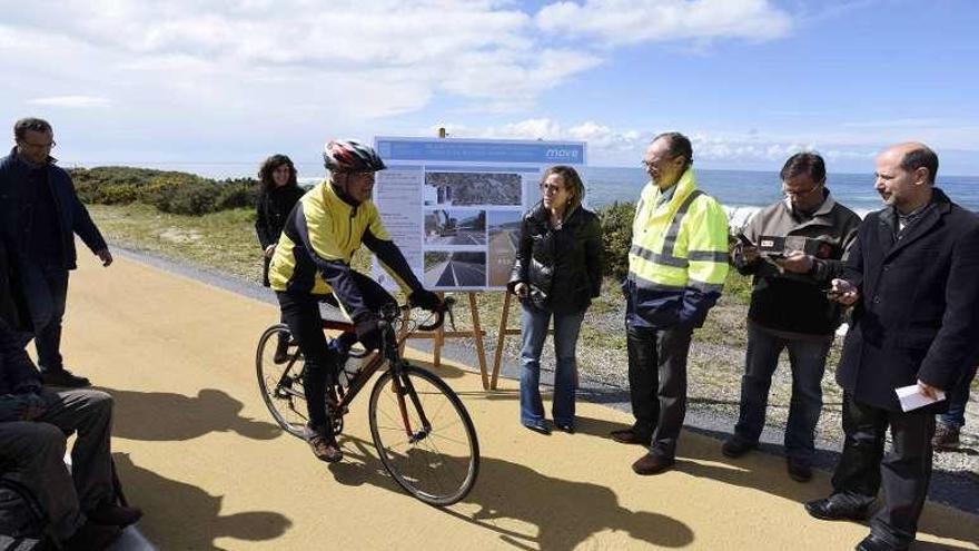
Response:
[[[535,163],[583,165],[585,146],[555,141],[479,141],[377,138],[377,152],[392,161]]]

